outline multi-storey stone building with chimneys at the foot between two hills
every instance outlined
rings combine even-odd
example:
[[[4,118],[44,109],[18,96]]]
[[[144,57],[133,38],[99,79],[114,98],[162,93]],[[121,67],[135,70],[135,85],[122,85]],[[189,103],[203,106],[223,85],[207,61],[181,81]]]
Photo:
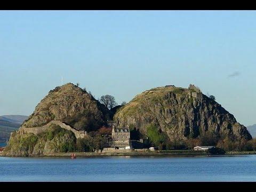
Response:
[[[124,128],[117,128],[114,125],[112,126],[112,147],[115,148],[131,148],[131,140],[130,140],[130,130],[129,126]]]

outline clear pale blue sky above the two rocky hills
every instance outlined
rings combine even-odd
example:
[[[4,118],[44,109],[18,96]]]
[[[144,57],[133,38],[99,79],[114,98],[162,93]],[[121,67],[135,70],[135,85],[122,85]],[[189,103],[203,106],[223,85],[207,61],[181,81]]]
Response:
[[[256,123],[255,11],[0,11],[0,115],[30,115],[80,83],[118,103],[195,84]]]

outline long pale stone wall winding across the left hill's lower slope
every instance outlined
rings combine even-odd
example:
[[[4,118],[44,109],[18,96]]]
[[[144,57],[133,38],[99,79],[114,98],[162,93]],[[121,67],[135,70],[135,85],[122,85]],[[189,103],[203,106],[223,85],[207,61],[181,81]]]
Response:
[[[71,126],[66,125],[65,123],[62,123],[61,121],[51,121],[46,125],[43,125],[40,127],[21,127],[19,130],[19,133],[20,134],[28,134],[28,133],[39,134],[46,131],[49,128],[49,126],[52,124],[59,125],[62,129],[72,131],[75,134],[76,138],[84,138],[86,136],[86,132],[79,132],[73,129]]]

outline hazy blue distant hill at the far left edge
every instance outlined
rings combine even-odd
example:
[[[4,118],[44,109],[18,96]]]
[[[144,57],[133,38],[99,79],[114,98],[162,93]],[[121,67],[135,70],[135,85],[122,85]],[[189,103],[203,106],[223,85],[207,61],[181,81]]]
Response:
[[[0,143],[10,138],[11,132],[18,130],[20,125],[28,118],[24,115],[3,115],[0,116]]]

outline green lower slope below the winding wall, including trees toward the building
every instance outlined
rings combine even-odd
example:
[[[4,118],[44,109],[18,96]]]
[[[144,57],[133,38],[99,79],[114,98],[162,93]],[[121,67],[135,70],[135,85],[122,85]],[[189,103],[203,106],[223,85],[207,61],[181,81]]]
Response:
[[[85,138],[76,139],[72,131],[59,125],[50,125],[40,134],[19,134],[14,132],[3,151],[5,156],[41,156],[52,153],[92,152],[108,146],[108,138],[102,130],[93,131]],[[105,130],[106,131],[106,130]]]

